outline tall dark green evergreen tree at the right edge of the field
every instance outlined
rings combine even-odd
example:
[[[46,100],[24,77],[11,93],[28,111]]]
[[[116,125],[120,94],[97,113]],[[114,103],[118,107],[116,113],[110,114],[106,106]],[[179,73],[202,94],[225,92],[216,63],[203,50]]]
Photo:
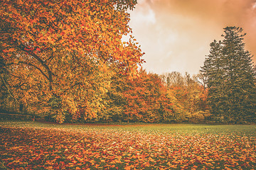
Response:
[[[254,122],[255,69],[245,50],[242,28],[226,27],[223,41],[210,43],[201,72],[206,77],[208,100],[215,118],[223,123]]]

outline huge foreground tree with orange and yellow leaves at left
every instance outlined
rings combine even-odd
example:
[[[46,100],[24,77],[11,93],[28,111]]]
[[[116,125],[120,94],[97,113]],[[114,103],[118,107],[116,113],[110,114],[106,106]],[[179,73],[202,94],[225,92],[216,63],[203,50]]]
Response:
[[[112,72],[132,75],[142,52],[127,9],[137,1],[3,0],[0,55],[9,94],[28,111],[62,123],[97,118]]]

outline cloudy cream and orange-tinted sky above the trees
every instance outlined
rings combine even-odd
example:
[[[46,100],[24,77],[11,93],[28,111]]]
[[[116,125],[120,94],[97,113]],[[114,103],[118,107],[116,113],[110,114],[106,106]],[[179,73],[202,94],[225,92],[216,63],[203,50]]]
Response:
[[[256,0],[138,0],[130,13],[148,72],[197,74],[226,26],[242,27],[245,49],[256,55]]]

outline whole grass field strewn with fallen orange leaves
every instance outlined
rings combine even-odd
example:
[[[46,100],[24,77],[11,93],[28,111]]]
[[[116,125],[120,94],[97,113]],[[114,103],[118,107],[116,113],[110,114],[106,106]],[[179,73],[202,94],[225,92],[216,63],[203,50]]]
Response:
[[[256,125],[0,122],[0,169],[256,169]]]

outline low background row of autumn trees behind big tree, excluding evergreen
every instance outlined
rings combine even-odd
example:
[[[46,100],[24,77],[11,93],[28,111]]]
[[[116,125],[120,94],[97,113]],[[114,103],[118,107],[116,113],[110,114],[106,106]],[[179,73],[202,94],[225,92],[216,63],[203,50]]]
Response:
[[[102,79],[104,76],[102,75]],[[105,82],[107,86],[104,89],[102,84],[98,84],[97,89],[90,89],[90,96],[87,96],[88,91],[78,89],[82,90],[78,92],[76,89],[78,96],[73,97],[80,100],[80,97],[86,97],[87,105],[90,106],[82,106],[70,98],[67,107],[63,98],[56,97],[50,98],[46,106],[38,101],[25,104],[14,101],[5,91],[2,93],[1,108],[7,111],[31,112],[47,120],[57,120],[57,114],[53,111],[63,110],[65,112],[61,123],[203,123],[210,118],[210,113],[206,101],[207,91],[198,83],[198,79],[198,76],[183,76],[178,72],[158,75],[140,69],[138,76],[133,79],[123,74],[112,75],[108,83]]]

